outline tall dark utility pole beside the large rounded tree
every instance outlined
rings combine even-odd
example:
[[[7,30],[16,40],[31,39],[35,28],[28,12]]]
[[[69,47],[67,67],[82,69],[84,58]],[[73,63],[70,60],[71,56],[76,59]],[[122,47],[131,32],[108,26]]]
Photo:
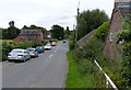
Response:
[[[75,47],[78,46],[78,45],[76,45],[76,42],[78,42],[78,36],[79,36],[79,15],[80,15],[80,9],[79,9],[79,7],[80,7],[80,1],[81,1],[81,0],[79,0],[78,14],[76,14]]]

